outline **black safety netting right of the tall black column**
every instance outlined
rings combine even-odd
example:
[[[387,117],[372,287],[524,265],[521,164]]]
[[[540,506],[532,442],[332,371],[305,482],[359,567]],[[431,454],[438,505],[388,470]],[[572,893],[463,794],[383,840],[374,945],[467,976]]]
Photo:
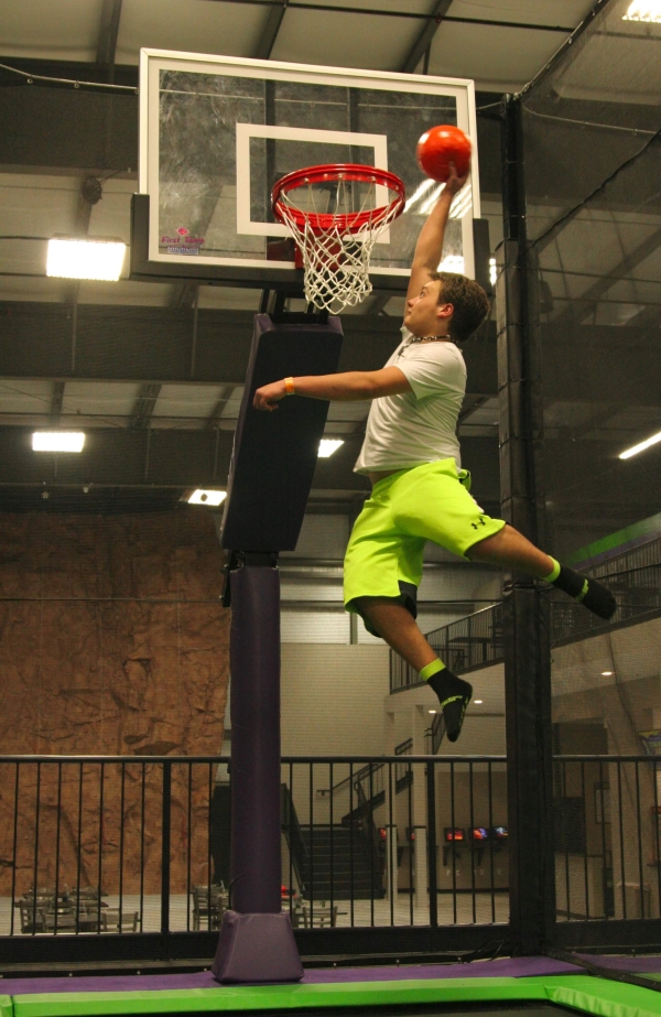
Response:
[[[636,451],[661,431],[661,25],[628,8],[522,98],[542,530],[618,602],[604,623],[552,596],[556,920],[615,920],[588,950],[653,941],[618,920],[661,898],[661,443]]]

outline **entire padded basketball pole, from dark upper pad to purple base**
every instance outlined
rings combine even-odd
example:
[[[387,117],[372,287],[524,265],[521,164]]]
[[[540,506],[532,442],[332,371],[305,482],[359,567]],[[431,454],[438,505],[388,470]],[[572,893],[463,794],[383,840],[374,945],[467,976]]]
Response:
[[[212,971],[219,982],[303,977],[282,910],[280,816],[280,576],[278,553],[294,550],[316,468],[328,404],[283,400],[252,408],[254,390],[289,375],[337,370],[342,328],[273,324],[257,315],[220,542],[231,592],[230,905]]]

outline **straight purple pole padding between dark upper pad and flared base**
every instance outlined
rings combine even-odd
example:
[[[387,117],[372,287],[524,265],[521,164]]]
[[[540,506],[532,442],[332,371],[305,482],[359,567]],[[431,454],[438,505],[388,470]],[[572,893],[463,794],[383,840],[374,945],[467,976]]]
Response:
[[[280,575],[231,574],[230,902],[243,915],[280,913]]]

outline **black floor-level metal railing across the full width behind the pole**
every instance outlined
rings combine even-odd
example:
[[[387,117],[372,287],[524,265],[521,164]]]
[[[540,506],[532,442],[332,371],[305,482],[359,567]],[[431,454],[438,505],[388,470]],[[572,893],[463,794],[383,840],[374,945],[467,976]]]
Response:
[[[184,955],[207,955],[208,933],[231,907],[210,815],[226,762],[0,757],[4,955],[12,943],[30,961],[48,941],[74,950],[97,941],[107,959],[132,956],[150,934],[167,956],[182,935]],[[366,771],[382,775],[379,793],[357,779]],[[281,772],[283,908],[295,929],[399,930],[414,946],[430,928],[507,927],[505,757],[297,756]],[[555,756],[553,772],[559,935],[568,942],[573,928],[602,922],[619,942],[632,926],[655,928],[661,759]]]

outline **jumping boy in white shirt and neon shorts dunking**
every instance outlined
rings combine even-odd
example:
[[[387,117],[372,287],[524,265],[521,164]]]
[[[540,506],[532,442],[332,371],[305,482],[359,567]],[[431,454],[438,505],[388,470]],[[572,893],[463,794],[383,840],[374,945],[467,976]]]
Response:
[[[456,344],[489,311],[484,290],[464,275],[437,272],[455,194],[466,177],[447,181],[425,221],[413,257],[403,342],[376,371],[285,378],[254,394],[258,410],[275,410],[288,396],[371,399],[357,473],[371,496],[356,520],[345,558],[345,607],[358,613],[438,696],[447,737],[456,742],[472,685],[438,659],[415,624],[416,592],[427,540],[470,561],[529,572],[563,589],[602,618],[616,609],[596,580],[560,565],[502,519],[486,516],[468,494],[456,424],[466,367]]]

